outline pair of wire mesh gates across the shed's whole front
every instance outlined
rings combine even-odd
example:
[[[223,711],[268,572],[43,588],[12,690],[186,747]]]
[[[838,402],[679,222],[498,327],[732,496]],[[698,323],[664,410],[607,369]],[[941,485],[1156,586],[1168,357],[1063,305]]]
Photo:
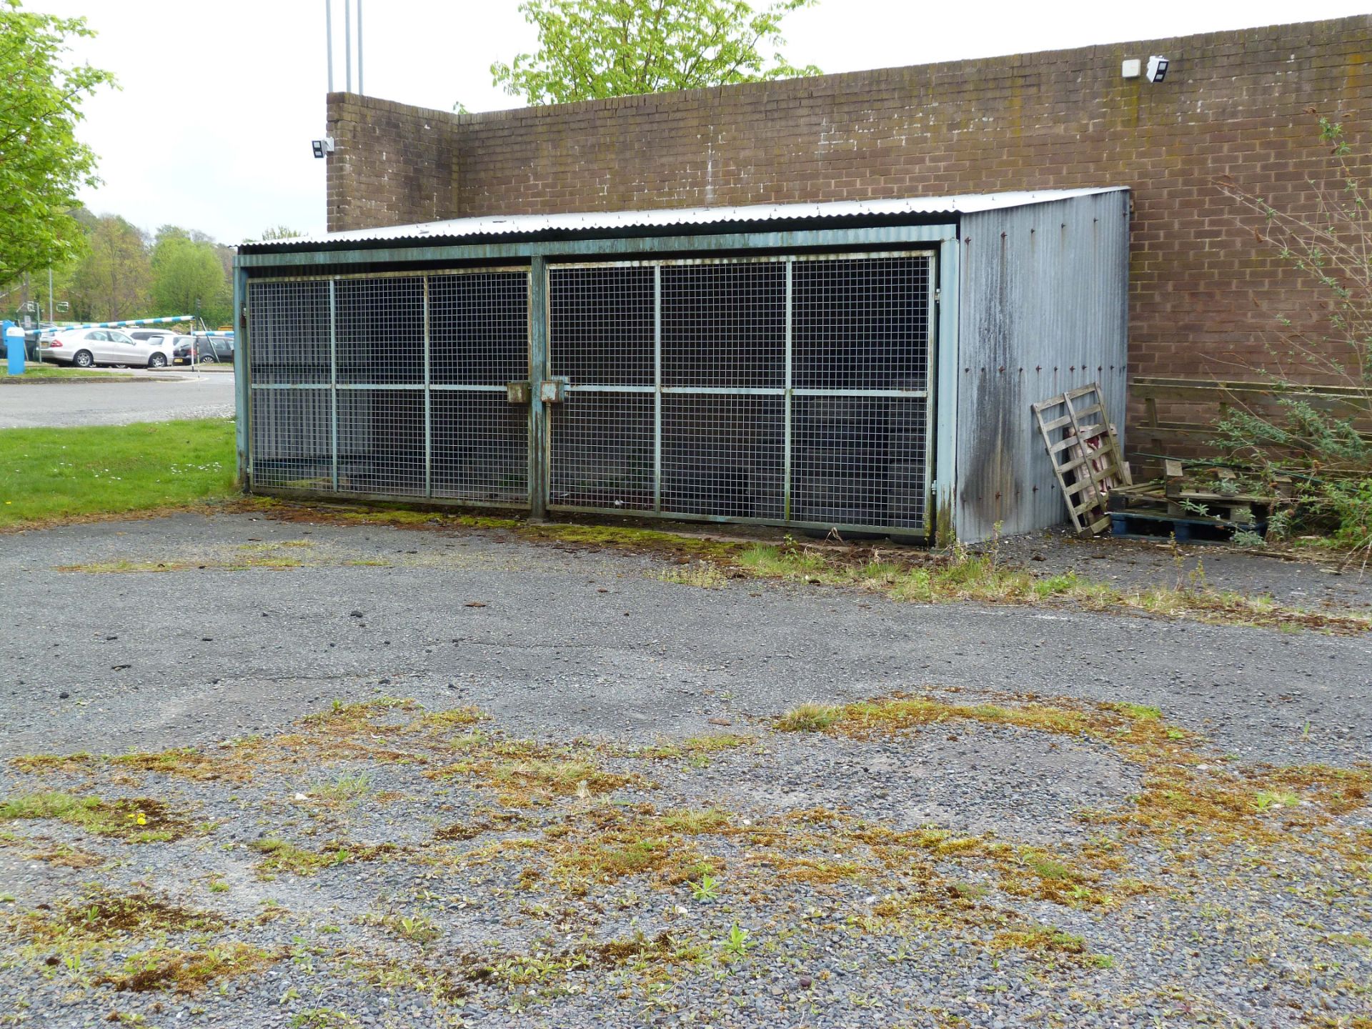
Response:
[[[929,252],[248,284],[254,487],[927,534]],[[510,383],[550,377],[546,442]],[[538,407],[539,405],[535,405]],[[536,506],[536,505],[535,505]]]

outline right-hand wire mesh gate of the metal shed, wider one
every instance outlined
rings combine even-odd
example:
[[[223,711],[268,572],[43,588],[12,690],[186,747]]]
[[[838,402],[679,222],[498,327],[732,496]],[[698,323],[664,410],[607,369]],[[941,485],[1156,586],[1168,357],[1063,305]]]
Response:
[[[927,535],[932,254],[547,274],[550,509]]]

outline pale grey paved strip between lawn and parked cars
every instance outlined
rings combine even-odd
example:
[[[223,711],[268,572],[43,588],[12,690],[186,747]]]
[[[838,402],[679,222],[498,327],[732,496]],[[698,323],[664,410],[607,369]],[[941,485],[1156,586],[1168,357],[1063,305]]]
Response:
[[[162,370],[156,376],[155,381],[73,379],[0,386],[0,429],[233,417],[233,375]]]

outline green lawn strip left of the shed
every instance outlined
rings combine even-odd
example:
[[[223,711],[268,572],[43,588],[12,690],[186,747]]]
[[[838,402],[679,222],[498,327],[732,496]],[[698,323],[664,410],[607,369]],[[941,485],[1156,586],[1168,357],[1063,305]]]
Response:
[[[224,499],[235,464],[228,418],[0,429],[0,528]]]

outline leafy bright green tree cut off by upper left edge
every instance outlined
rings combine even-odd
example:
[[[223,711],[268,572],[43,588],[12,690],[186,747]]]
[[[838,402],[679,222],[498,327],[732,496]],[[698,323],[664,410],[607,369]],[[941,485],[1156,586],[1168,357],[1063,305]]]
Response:
[[[0,0],[0,283],[82,252],[75,193],[100,180],[75,123],[85,97],[114,77],[64,55],[69,37],[93,34],[84,18]]]

